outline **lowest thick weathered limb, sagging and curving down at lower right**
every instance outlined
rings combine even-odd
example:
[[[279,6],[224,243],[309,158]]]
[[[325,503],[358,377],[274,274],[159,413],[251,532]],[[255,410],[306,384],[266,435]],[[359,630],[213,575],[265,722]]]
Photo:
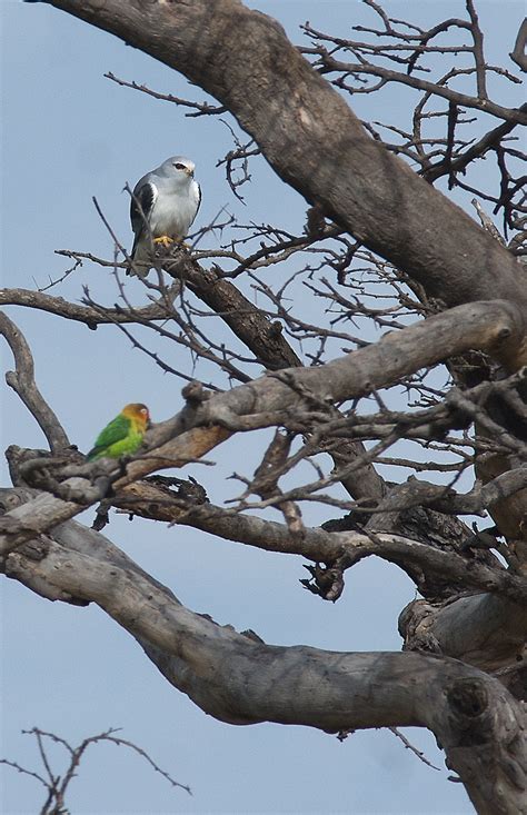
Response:
[[[9,576],[97,603],[203,710],[232,724],[278,722],[329,732],[429,727],[478,812],[520,812],[524,714],[495,679],[424,654],[345,654],[255,642],[185,608],[139,572],[49,541],[37,561],[8,557]],[[365,704],[367,700],[367,704]],[[513,809],[511,807],[516,807]]]

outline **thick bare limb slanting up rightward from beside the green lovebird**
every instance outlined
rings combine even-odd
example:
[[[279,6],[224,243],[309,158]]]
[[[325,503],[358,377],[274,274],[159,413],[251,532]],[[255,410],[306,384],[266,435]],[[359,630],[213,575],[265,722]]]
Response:
[[[260,377],[226,394],[193,402],[173,419],[158,425],[147,437],[149,447],[155,448],[156,459],[132,461],[127,481],[162,467],[195,460],[233,430],[285,424],[289,411],[298,410],[304,395],[316,399],[320,406],[326,400],[335,404],[361,397],[470,348],[500,355],[508,344],[517,342],[521,331],[521,316],[511,304],[467,304],[399,331],[390,331],[375,345],[326,365],[290,368]],[[197,425],[202,426],[197,428]],[[189,429],[192,427],[195,429]]]

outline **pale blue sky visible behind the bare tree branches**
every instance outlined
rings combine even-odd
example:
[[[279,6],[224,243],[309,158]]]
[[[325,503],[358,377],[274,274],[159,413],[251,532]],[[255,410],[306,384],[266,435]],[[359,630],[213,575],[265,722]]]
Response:
[[[310,20],[342,34],[365,21],[358,2],[253,2],[287,27],[299,42],[298,23]],[[464,14],[464,2],[390,2],[396,17],[436,22]],[[489,59],[500,63],[513,48],[524,3],[479,2]],[[412,17],[414,16],[414,17]],[[371,19],[371,18],[370,18]],[[111,257],[111,241],[95,212],[97,196],[121,240],[130,243],[128,199],[121,192],[167,156],[196,161],[203,188],[199,225],[227,205],[241,219],[276,221],[301,229],[306,205],[276,179],[262,159],[253,162],[247,207],[230,193],[216,161],[230,148],[218,121],[187,119],[183,111],[103,78],[106,71],[161,92],[205,93],[179,74],[119,40],[43,4],[3,2],[2,21],[2,286],[34,287],[58,277],[68,248]],[[296,32],[296,33],[295,33]],[[510,66],[511,67],[511,66]],[[520,91],[501,86],[500,101],[518,105]],[[516,96],[515,96],[516,95]],[[365,118],[389,118],[407,97],[396,90],[381,101],[357,98]],[[355,101],[355,100],[354,100]],[[375,105],[378,105],[376,111]],[[390,110],[387,109],[390,108]],[[199,226],[198,225],[198,226]],[[96,299],[118,299],[115,280],[86,265],[54,294],[79,300],[88,285]],[[128,284],[137,301],[142,288]],[[87,449],[97,430],[127,401],[147,401],[155,420],[180,405],[180,380],[162,376],[115,329],[89,331],[59,318],[9,308],[31,342],[38,384],[71,440]],[[178,349],[165,347],[178,360]],[[2,350],[10,368],[9,350]],[[42,436],[12,391],[2,394],[2,441],[43,445]],[[232,469],[251,471],[258,449],[233,439],[215,470],[193,471],[211,499],[236,493]],[[9,484],[3,468],[3,484]],[[308,523],[330,516],[306,510]],[[87,514],[91,523],[92,514]],[[215,540],[186,528],[112,519],[109,537],[167,584],[191,609],[238,629],[252,628],[267,642],[375,650],[399,649],[397,616],[414,598],[412,584],[395,567],[369,560],[348,573],[335,606],[301,590],[301,559],[279,557]],[[357,733],[340,744],[309,728],[232,727],[206,716],[171,688],[135,642],[97,607],[48,603],[3,579],[2,756],[36,768],[36,749],[22,728],[37,725],[76,743],[109,726],[149,751],[193,797],[172,791],[137,757],[111,746],[93,748],[71,787],[77,814],[115,813],[468,813],[463,787],[420,764],[389,733]],[[410,737],[443,767],[434,738]],[[34,813],[42,791],[12,771],[2,772],[2,812]],[[425,803],[424,803],[425,802]],[[424,809],[424,807],[427,807]]]

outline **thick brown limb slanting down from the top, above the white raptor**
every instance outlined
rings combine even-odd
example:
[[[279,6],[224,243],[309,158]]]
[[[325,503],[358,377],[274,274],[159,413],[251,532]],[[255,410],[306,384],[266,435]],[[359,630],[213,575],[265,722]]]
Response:
[[[429,295],[449,306],[504,298],[527,314],[515,258],[370,139],[269,17],[239,0],[51,4],[115,33],[215,96],[285,181]],[[524,325],[510,367],[527,359],[525,335]]]

